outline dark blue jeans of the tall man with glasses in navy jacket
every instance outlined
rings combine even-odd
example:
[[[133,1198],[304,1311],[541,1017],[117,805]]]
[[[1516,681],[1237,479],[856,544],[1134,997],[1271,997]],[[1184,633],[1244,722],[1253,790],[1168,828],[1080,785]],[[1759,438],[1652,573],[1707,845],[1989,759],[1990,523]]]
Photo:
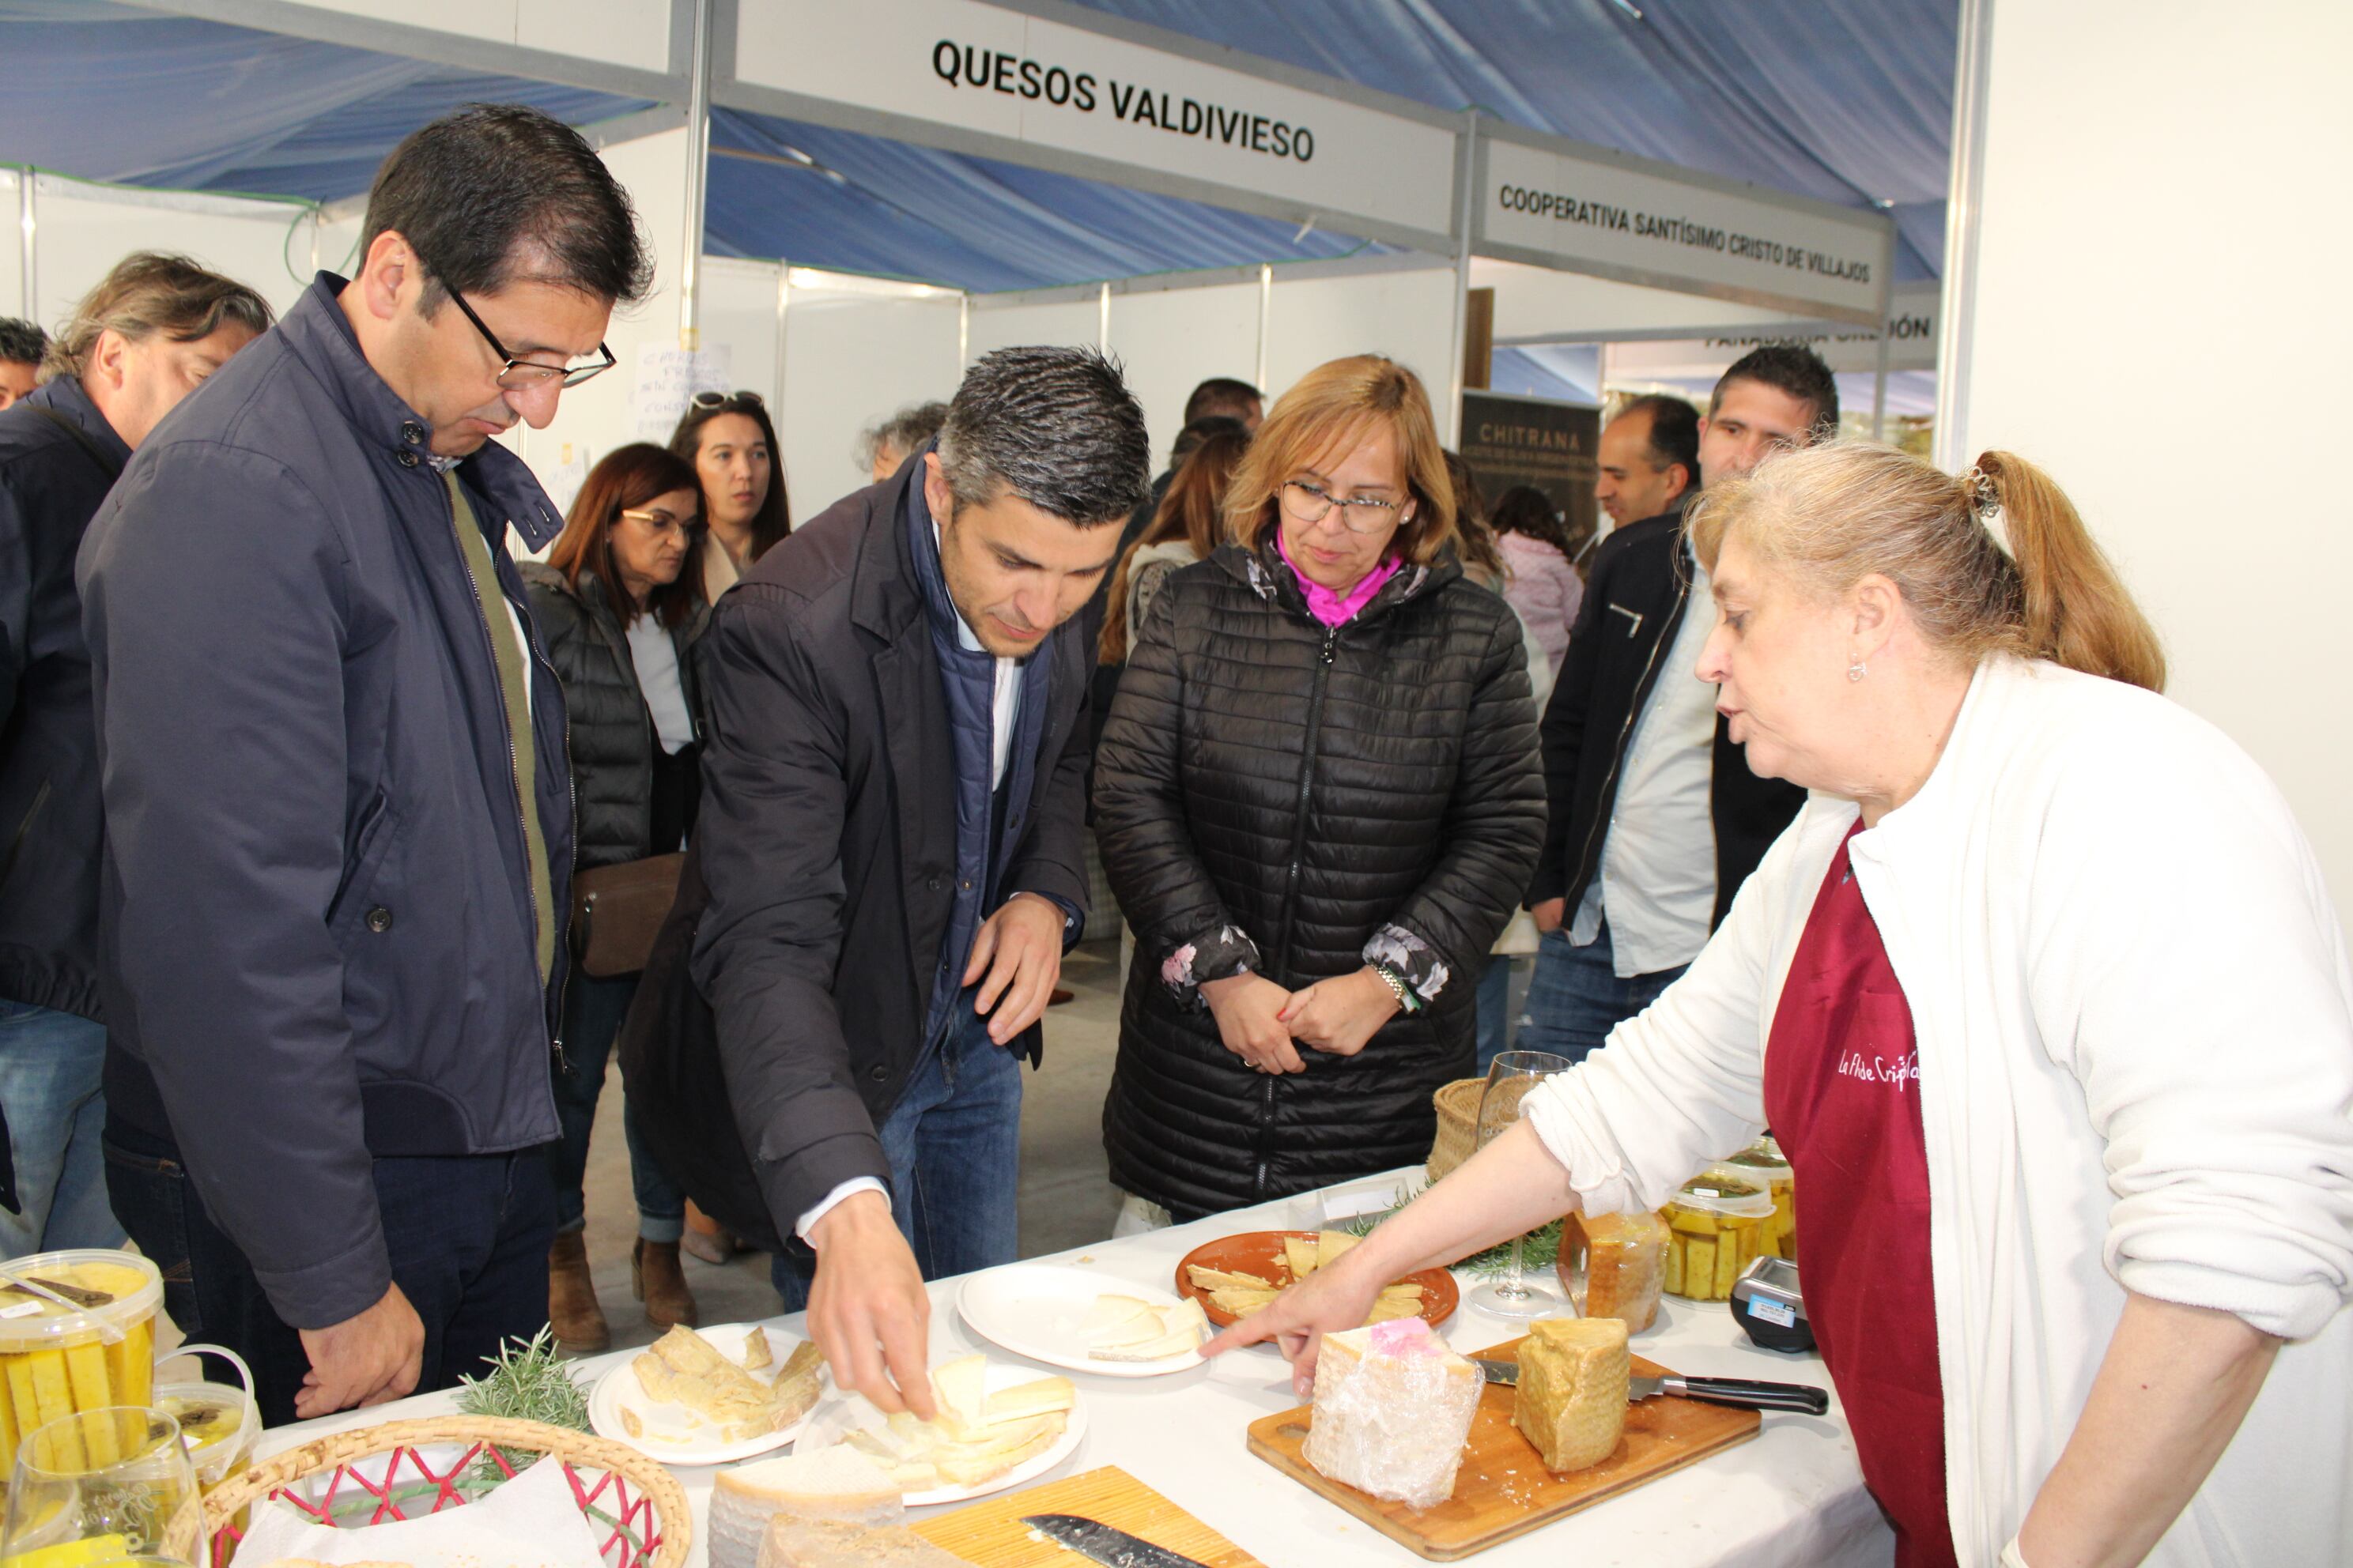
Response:
[[[205,1213],[179,1150],[115,1121],[106,1185],[139,1251],[162,1269],[162,1305],[179,1331],[252,1363],[264,1425],[294,1420],[311,1356]],[[546,1150],[379,1159],[376,1208],[393,1284],[426,1328],[419,1394],[480,1375],[501,1342],[529,1340],[548,1321],[555,1201]]]

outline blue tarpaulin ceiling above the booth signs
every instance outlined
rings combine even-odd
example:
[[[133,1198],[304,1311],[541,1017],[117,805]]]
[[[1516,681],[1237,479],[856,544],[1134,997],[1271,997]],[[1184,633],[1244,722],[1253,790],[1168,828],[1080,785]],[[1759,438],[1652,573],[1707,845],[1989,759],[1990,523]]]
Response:
[[[1897,277],[1939,270],[1958,0],[1645,0],[1638,14],[1612,0],[1082,2],[1438,108],[1478,103],[1692,169],[1885,205],[1904,235]],[[402,134],[456,103],[536,103],[574,125],[647,108],[106,0],[0,0],[0,162],[311,200],[365,190]],[[736,110],[715,115],[713,146],[715,254],[1019,289],[1360,249]]]

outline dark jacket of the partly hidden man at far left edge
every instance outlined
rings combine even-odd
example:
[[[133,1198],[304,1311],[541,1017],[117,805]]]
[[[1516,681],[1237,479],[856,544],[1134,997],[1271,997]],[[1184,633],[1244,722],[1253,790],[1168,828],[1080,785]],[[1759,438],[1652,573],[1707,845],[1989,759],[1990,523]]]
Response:
[[[0,997],[82,1018],[99,1016],[99,743],[73,552],[129,458],[71,376],[0,414]]]

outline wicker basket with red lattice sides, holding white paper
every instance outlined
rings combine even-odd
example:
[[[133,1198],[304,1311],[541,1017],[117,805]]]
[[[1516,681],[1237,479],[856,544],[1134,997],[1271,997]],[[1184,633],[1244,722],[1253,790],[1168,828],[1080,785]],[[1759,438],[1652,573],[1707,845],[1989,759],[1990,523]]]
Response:
[[[428,1458],[426,1448],[454,1458]],[[544,1453],[562,1462],[581,1512],[609,1526],[602,1542],[609,1568],[680,1568],[687,1561],[694,1514],[685,1488],[656,1460],[586,1432],[532,1420],[438,1415],[334,1432],[224,1481],[205,1497],[212,1568],[228,1568],[245,1537],[233,1521],[254,1502],[285,1497],[322,1523],[332,1512],[344,1528],[421,1519],[445,1507],[461,1507],[468,1497],[459,1488],[468,1486],[475,1465],[494,1465],[501,1476],[513,1476],[518,1467],[508,1465],[501,1448]],[[374,1507],[367,1505],[369,1497]]]

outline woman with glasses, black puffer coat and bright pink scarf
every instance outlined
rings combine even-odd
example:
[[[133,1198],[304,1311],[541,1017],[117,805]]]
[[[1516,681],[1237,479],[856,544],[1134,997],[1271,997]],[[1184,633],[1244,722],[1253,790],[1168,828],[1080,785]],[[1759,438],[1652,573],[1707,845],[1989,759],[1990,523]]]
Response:
[[[1176,1220],[1421,1161],[1544,842],[1527,651],[1454,559],[1421,381],[1334,360],[1153,599],[1096,752],[1136,929],[1111,1178]]]

